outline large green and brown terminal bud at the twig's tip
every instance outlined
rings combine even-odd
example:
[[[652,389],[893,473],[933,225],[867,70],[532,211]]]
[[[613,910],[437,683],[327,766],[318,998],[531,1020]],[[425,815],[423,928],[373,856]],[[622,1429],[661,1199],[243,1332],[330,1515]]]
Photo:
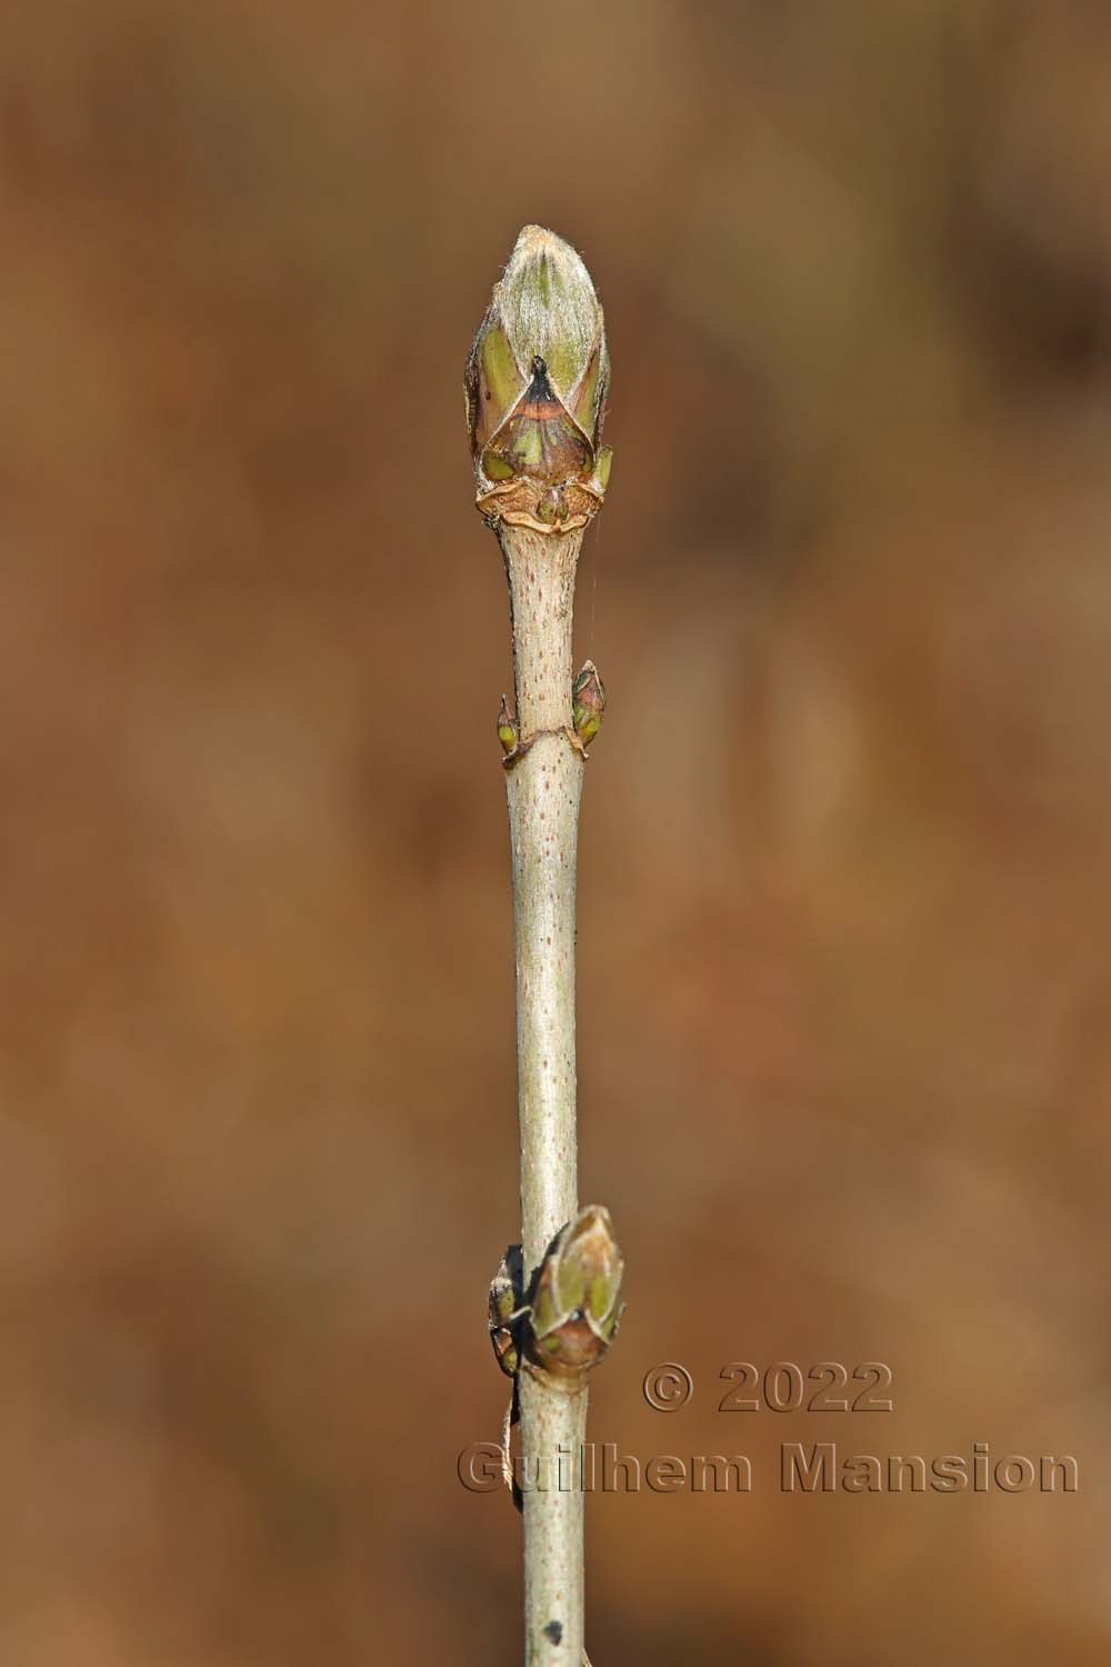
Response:
[[[585,527],[605,495],[605,322],[581,258],[526,225],[466,365],[478,507],[540,532]]]

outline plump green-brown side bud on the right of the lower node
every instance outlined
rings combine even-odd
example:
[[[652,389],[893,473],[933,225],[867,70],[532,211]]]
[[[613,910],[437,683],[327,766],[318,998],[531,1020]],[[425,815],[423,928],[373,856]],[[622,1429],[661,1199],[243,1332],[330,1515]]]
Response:
[[[598,1365],[621,1317],[625,1264],[610,1212],[590,1205],[566,1224],[540,1265],[531,1314],[531,1357],[575,1375]]]

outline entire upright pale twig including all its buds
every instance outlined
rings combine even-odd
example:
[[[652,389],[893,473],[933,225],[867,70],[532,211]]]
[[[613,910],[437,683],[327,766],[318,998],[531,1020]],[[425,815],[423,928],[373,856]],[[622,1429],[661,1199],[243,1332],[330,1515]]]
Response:
[[[575,1129],[581,737],[596,732],[605,693],[593,665],[575,678],[571,612],[583,528],[608,480],[598,447],[606,382],[601,307],[583,262],[526,227],[466,375],[478,507],[501,545],[513,620],[515,705],[503,700],[498,735],[513,855],[523,1272],[511,1290],[503,1270],[491,1327],[501,1364],[521,1365],[526,1667],[585,1659],[586,1370],[615,1334],[621,1280],[606,1212],[578,1214]],[[513,1340],[498,1327],[511,1310]]]

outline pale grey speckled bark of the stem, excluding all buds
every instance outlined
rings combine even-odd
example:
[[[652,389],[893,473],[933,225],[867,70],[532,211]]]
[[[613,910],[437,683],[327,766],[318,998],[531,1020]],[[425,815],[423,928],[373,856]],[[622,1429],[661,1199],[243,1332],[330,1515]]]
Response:
[[[506,770],[516,945],[525,1280],[578,1209],[575,875],[583,752],[571,727],[581,530],[498,528],[513,613],[518,752]],[[521,1370],[526,1667],[583,1657],[586,1389]],[[561,1485],[563,1484],[563,1485]]]

